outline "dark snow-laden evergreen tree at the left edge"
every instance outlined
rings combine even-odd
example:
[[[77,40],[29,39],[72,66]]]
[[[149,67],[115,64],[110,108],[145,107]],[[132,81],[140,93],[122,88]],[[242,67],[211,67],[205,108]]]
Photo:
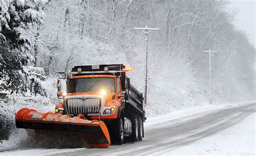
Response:
[[[29,77],[23,66],[34,59],[30,29],[45,21],[42,7],[47,1],[3,0],[0,2],[0,84],[1,90],[26,92],[35,86],[45,94],[36,78]],[[35,45],[33,45],[35,46]],[[31,85],[33,83],[34,85]]]

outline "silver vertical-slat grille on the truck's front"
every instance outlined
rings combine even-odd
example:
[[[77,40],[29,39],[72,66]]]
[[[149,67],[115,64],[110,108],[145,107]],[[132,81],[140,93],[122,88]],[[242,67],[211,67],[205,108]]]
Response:
[[[83,113],[99,113],[100,99],[88,98],[82,99],[68,99],[67,110],[69,114],[83,114]]]

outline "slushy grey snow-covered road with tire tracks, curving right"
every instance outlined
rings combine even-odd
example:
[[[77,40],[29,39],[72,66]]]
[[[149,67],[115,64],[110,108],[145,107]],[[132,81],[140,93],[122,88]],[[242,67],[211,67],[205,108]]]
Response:
[[[228,127],[235,127],[250,114],[255,114],[254,112],[255,104],[246,104],[194,114],[193,116],[169,120],[156,125],[149,125],[145,127],[145,138],[143,141],[134,144],[126,143],[122,146],[112,145],[109,148],[91,149],[64,148],[15,150],[2,152],[0,155],[170,155],[172,154],[172,151],[174,152],[173,154],[182,154],[182,152],[179,153],[178,151],[182,151],[186,145],[193,145],[198,140],[205,140],[214,134],[227,130]],[[255,118],[251,121],[251,124],[255,125]],[[241,135],[243,134],[241,133]],[[254,149],[252,149],[252,151],[253,150]],[[190,153],[186,153],[186,155],[187,154]]]

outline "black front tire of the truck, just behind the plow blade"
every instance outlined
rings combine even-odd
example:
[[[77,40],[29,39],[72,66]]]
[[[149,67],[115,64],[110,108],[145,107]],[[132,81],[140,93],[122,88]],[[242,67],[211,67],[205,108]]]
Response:
[[[112,127],[111,142],[116,145],[124,144],[124,122],[122,118],[119,118]]]

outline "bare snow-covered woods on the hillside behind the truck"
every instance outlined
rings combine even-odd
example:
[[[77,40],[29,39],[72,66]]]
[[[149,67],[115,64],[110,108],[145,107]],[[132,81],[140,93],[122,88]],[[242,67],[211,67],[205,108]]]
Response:
[[[73,65],[129,64],[135,69],[130,75],[134,85],[143,91],[144,34],[132,28],[146,24],[159,26],[160,31],[149,35],[149,98],[154,97],[149,101],[158,101],[163,92],[168,102],[200,103],[200,97],[207,97],[208,57],[203,50],[209,48],[218,51],[212,60],[213,90],[217,93],[214,97],[224,98],[230,91],[225,69],[235,66],[236,77],[242,73],[253,75],[255,60],[255,49],[232,24],[234,15],[226,11],[228,3],[217,0],[51,1],[44,9],[45,26],[39,30],[44,51],[38,53],[38,62],[47,74]],[[166,79],[170,81],[165,82]],[[241,84],[242,79],[237,78],[237,85]],[[163,90],[166,85],[173,90],[171,96]]]

